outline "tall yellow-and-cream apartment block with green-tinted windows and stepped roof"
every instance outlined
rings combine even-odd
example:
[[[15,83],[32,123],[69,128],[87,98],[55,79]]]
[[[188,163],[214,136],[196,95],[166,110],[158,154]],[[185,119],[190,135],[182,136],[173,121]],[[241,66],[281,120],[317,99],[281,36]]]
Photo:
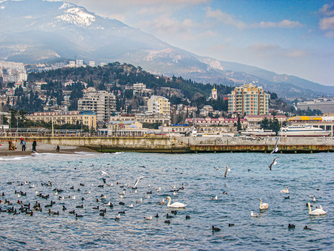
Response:
[[[269,98],[270,95],[264,92],[261,86],[243,84],[228,94],[228,112],[246,115],[269,114]]]

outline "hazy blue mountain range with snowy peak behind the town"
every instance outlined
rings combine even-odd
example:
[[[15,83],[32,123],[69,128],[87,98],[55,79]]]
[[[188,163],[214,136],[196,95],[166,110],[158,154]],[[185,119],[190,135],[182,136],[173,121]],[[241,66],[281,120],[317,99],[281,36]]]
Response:
[[[219,83],[259,81],[281,97],[334,94],[333,86],[254,66],[218,61],[173,47],[153,35],[83,7],[42,0],[0,2],[0,60],[35,63],[57,58],[126,62],[154,74]],[[172,34],[171,34],[172,35]]]

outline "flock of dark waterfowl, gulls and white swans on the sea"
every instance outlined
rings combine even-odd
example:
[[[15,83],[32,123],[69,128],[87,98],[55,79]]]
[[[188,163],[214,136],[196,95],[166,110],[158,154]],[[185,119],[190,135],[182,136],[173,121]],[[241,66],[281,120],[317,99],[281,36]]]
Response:
[[[278,143],[278,141],[276,141],[275,147],[272,150],[272,152],[270,153],[270,155],[279,150],[278,146],[277,146],[277,143]],[[277,159],[278,158],[279,157],[276,157],[273,160],[273,162],[269,165],[270,171],[272,170],[272,167],[277,164]],[[145,166],[141,166],[141,167],[145,167]],[[214,168],[215,168],[216,171],[221,170],[219,167],[214,167]],[[107,171],[104,171],[104,170],[99,170],[99,171],[101,171],[101,175],[109,176],[111,181],[114,182],[112,176]],[[228,174],[229,171],[230,171],[230,168],[228,168],[228,166],[226,166],[225,167],[225,173],[224,173],[225,178],[227,177],[227,174]],[[249,171],[251,171],[251,169],[248,169],[248,172]],[[139,181],[143,178],[148,178],[148,176],[138,177],[135,180],[134,185],[132,185],[132,186],[127,185],[127,184],[121,184],[121,183],[117,182],[116,185],[120,185],[120,188],[122,188],[122,190],[120,192],[118,192],[118,195],[120,196],[120,198],[124,198],[127,195],[127,193],[135,193],[136,194],[137,191],[138,191],[137,185],[138,185]],[[103,184],[97,185],[100,188],[104,187],[105,185],[106,186],[114,186],[114,183],[112,183],[112,182],[110,184],[106,184],[107,181],[103,177],[102,177],[102,181],[103,181]],[[8,185],[13,185],[13,183],[8,182]],[[79,214],[80,213],[80,208],[84,208],[84,207],[87,208],[87,204],[84,205],[85,198],[82,196],[82,193],[81,193],[81,195],[78,196],[78,197],[81,197],[81,198],[76,198],[76,196],[78,194],[74,195],[74,196],[62,195],[63,193],[65,193],[64,190],[67,190],[67,189],[74,190],[73,186],[70,187],[70,188],[65,188],[65,189],[64,188],[63,189],[58,189],[58,188],[52,189],[53,186],[52,186],[51,181],[48,181],[46,183],[41,183],[41,186],[49,187],[48,190],[50,190],[50,192],[47,192],[48,194],[44,194],[44,195],[41,192],[38,192],[36,190],[37,187],[35,187],[34,184],[30,185],[30,183],[28,181],[24,182],[24,184],[21,183],[21,182],[18,182],[18,186],[25,186],[24,188],[28,188],[28,190],[29,189],[34,189],[35,190],[34,195],[36,196],[36,198],[39,197],[39,199],[34,200],[34,202],[31,202],[31,201],[30,202],[29,201],[23,202],[20,199],[22,199],[22,197],[26,196],[27,192],[23,192],[21,190],[18,192],[17,190],[15,190],[14,193],[15,193],[15,195],[17,195],[17,202],[9,201],[6,198],[4,200],[0,199],[0,213],[8,213],[8,214],[13,214],[13,215],[25,214],[25,215],[33,216],[36,213],[42,213],[42,212],[45,212],[45,210],[46,210],[46,213],[49,214],[49,215],[59,215],[59,214],[61,214],[61,213],[59,213],[59,211],[56,212],[56,211],[52,211],[51,209],[52,209],[52,206],[54,206],[54,204],[60,202],[60,204],[62,205],[62,210],[61,211],[63,211],[64,213],[67,211],[69,214],[72,214],[76,218],[85,217],[84,215]],[[96,185],[92,184],[92,186],[96,186]],[[182,183],[182,185],[180,185],[180,188],[176,189],[176,185],[173,185],[173,186],[171,186],[172,190],[170,190],[169,192],[172,192],[173,195],[177,195],[178,192],[180,192],[180,190],[182,191],[184,189],[184,186],[185,186],[185,184]],[[83,184],[83,183],[79,184],[79,188],[76,189],[78,192],[81,191],[80,187],[82,189],[82,187],[85,187],[85,184]],[[89,187],[89,185],[86,185],[86,188],[87,187]],[[151,188],[151,184],[148,184],[147,187]],[[130,192],[127,191],[127,189],[130,190]],[[161,191],[161,189],[162,189],[161,187],[154,188],[154,190],[156,190],[157,193],[159,193]],[[319,189],[317,189],[317,190],[319,190]],[[68,191],[69,190],[67,190],[67,192]],[[55,200],[54,199],[50,200],[49,203],[48,202],[43,203],[42,201],[48,201],[50,199],[49,198],[50,193],[53,193],[53,195],[56,195],[56,199]],[[91,191],[86,190],[85,193],[90,194]],[[289,186],[287,186],[286,189],[282,189],[281,193],[290,193],[289,192]],[[145,199],[150,199],[151,194],[152,194],[152,191],[149,191],[149,192],[146,192],[146,195],[143,195],[143,196],[145,197]],[[227,193],[225,191],[223,191],[223,194],[227,194]],[[0,194],[0,196],[2,196],[4,198],[5,193],[2,192],[2,194]],[[316,201],[316,198],[315,198],[314,195],[310,195],[309,197],[312,198],[312,201],[314,201],[314,202]],[[101,194],[100,196],[96,195],[96,198],[94,199],[94,201],[96,203],[99,203],[99,205],[92,207],[93,212],[99,212],[99,215],[102,216],[102,217],[104,217],[106,214],[108,214],[109,210],[112,209],[114,207],[114,205],[112,204],[112,202],[110,200],[108,200],[108,202],[107,202],[107,198],[108,198],[107,195],[104,195],[104,194]],[[45,199],[45,200],[43,200],[43,199]],[[211,197],[210,199],[211,200],[217,200],[218,196],[216,195],[215,197]],[[285,199],[290,199],[290,196],[285,197]],[[58,200],[59,202],[56,202],[56,200]],[[80,200],[82,203],[78,203],[79,205],[75,206],[75,208],[70,208],[69,210],[67,210],[66,203],[65,203],[66,200]],[[104,202],[104,200],[106,202]],[[259,206],[260,212],[262,210],[268,209],[269,204],[268,203],[263,203],[261,198],[259,200],[260,200],[260,206]],[[132,208],[132,207],[134,207],[134,203],[140,204],[142,202],[143,202],[143,198],[140,198],[139,200],[133,201],[130,204],[127,203],[127,206],[128,206],[128,208]],[[171,197],[170,196],[166,197],[166,202],[167,202],[167,207],[168,208],[185,208],[187,206],[187,204],[184,204],[184,203],[181,203],[181,202],[171,203]],[[159,205],[164,205],[166,202],[165,202],[165,199],[162,199],[162,201],[157,201],[156,203],[159,204]],[[126,206],[125,203],[122,202],[122,201],[120,201],[118,204],[121,205],[121,206]],[[328,212],[328,211],[324,211],[323,207],[321,205],[319,207],[316,207],[316,209],[314,209],[314,210],[311,209],[311,207],[313,207],[313,206],[310,203],[306,203],[306,206],[308,207],[308,210],[309,210],[308,214],[309,215],[325,215]],[[107,211],[107,208],[109,208],[108,211]],[[250,213],[251,213],[251,215],[250,215],[251,217],[260,217],[260,215],[257,214],[257,213],[254,213],[254,211],[250,211]],[[125,215],[125,214],[126,214],[125,210],[119,211],[118,213],[116,213],[115,221],[120,221],[121,220],[121,215]],[[171,221],[172,221],[172,218],[175,217],[178,214],[178,211],[177,210],[171,210],[171,214],[173,214],[174,216],[169,215],[169,214],[165,215],[166,220],[164,221],[164,223],[170,224]],[[160,218],[159,213],[156,213],[156,215],[154,217],[155,218]],[[153,219],[153,216],[143,216],[143,219],[145,221],[146,220],[149,221],[149,220]],[[190,216],[186,215],[185,219],[186,220],[190,219]],[[234,224],[229,223],[228,226],[232,227],[232,226],[234,226]],[[295,225],[289,224],[288,228],[289,229],[295,228]],[[311,230],[307,226],[305,226],[304,229],[305,230]],[[212,226],[212,231],[213,232],[218,232],[218,231],[220,231],[220,229],[215,227],[215,226]]]

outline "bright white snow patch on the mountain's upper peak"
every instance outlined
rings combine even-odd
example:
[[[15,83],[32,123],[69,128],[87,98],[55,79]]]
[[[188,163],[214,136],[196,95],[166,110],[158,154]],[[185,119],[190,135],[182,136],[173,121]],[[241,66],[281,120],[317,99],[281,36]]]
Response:
[[[65,22],[72,23],[78,26],[90,26],[93,22],[95,22],[95,16],[85,12],[85,10],[83,10],[82,8],[73,7],[66,10],[64,14],[57,16],[56,20],[63,20]]]

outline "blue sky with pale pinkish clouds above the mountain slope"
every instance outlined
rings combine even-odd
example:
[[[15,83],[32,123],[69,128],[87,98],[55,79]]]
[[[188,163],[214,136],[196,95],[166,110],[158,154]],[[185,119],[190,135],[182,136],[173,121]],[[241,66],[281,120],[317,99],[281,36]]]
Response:
[[[70,0],[200,56],[334,86],[334,0]]]

